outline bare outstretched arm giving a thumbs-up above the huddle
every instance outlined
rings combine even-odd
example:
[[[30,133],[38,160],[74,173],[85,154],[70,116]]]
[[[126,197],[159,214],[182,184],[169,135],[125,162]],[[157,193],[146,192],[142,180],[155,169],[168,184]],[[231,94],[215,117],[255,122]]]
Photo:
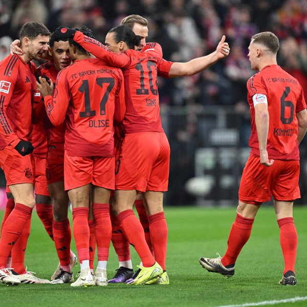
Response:
[[[206,56],[192,59],[188,62],[174,62],[172,63],[168,77],[181,77],[181,76],[191,76],[201,71],[207,69],[212,64],[216,63],[218,60],[225,58],[229,55],[230,48],[228,46],[228,42],[225,41],[226,36],[223,35],[221,41],[218,43],[216,50]],[[167,62],[164,62],[167,64]],[[163,72],[163,62],[161,63],[161,67],[158,67],[158,70]],[[159,71],[158,71],[159,73]],[[160,73],[159,73],[160,75]]]

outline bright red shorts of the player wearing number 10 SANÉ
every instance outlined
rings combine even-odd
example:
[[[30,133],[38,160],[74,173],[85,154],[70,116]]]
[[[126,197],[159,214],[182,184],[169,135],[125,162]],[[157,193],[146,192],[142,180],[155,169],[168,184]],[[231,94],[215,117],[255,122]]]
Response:
[[[165,133],[127,134],[115,167],[116,189],[167,191],[169,155]]]

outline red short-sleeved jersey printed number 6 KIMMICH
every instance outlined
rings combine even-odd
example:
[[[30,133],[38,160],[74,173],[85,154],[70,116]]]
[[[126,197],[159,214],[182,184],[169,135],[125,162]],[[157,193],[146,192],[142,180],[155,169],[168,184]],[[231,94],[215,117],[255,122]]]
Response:
[[[249,145],[259,157],[259,143],[255,125],[252,97],[267,96],[270,115],[267,150],[270,159],[299,160],[296,112],[306,108],[299,82],[278,65],[268,65],[247,81],[252,133]]]

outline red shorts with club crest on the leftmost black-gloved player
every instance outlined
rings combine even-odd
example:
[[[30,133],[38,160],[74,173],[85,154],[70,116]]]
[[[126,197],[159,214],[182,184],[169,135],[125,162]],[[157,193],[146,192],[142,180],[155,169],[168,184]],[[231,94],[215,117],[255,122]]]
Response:
[[[34,184],[34,158],[32,153],[21,156],[11,145],[0,150],[0,167],[3,169],[7,185],[18,183]]]

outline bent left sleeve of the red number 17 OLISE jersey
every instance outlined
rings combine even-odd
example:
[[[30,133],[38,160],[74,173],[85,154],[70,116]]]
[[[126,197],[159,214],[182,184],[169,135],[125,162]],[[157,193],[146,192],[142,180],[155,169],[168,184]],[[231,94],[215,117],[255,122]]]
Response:
[[[55,125],[60,125],[64,119],[70,101],[69,83],[64,70],[59,72],[53,97],[45,96],[45,107],[50,121]]]

